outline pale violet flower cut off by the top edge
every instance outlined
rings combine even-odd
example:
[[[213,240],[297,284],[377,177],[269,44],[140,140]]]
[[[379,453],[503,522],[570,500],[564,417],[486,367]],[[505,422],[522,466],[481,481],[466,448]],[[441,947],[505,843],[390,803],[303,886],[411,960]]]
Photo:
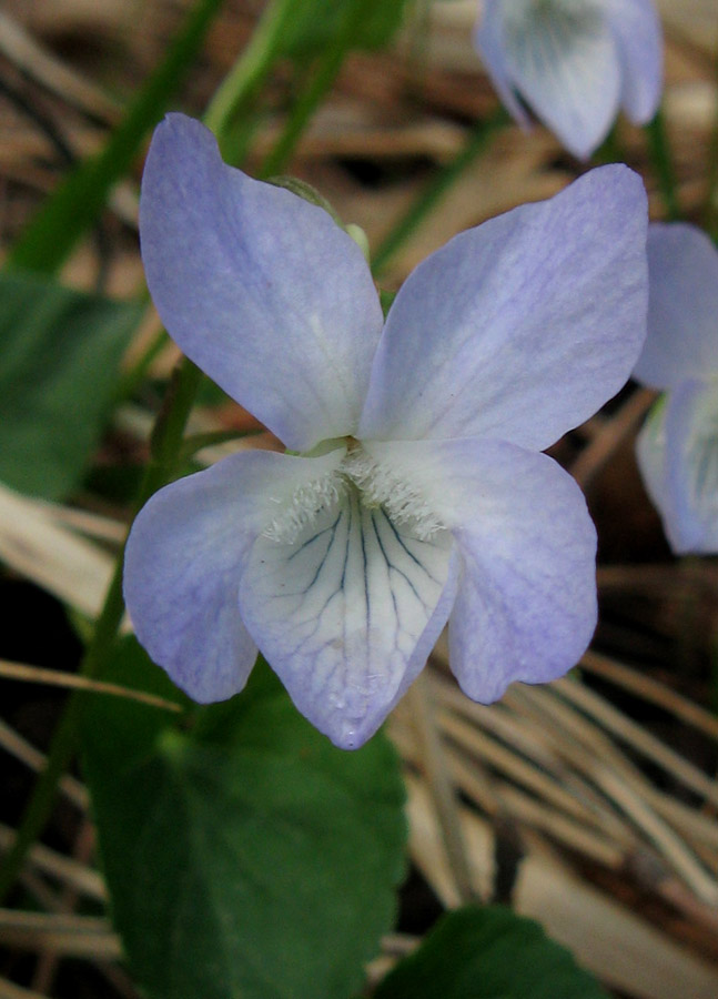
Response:
[[[619,108],[635,124],[658,110],[663,36],[653,0],[484,0],[475,43],[524,128],[527,108],[587,159]]]

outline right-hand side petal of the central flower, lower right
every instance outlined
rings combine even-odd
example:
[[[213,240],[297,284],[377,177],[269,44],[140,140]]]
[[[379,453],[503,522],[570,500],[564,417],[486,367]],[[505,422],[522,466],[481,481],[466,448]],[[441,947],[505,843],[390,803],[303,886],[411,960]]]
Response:
[[[453,531],[462,572],[449,659],[491,703],[513,680],[544,683],[578,662],[596,626],[596,531],[552,458],[498,441],[365,447],[411,476]]]

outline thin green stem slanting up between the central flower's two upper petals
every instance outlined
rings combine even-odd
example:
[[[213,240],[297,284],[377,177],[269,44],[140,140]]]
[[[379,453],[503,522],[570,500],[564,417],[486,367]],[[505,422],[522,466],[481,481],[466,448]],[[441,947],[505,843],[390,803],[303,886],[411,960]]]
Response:
[[[386,268],[391,258],[413,235],[461,174],[486,150],[494,134],[508,121],[508,114],[503,108],[499,108],[489,119],[474,125],[458,155],[429,180],[384,242],[380,244],[373,255],[372,270],[375,275]]]

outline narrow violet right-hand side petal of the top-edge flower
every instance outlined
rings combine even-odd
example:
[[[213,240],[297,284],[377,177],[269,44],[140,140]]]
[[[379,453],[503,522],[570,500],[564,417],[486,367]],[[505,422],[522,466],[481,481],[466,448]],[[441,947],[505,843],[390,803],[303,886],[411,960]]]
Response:
[[[660,102],[664,40],[654,0],[603,0],[620,58],[620,103],[636,124],[654,117]]]

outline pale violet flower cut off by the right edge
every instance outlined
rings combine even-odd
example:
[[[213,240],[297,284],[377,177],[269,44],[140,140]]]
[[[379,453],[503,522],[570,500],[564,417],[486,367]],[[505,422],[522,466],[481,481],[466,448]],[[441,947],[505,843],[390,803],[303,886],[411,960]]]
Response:
[[[648,231],[648,336],[635,377],[666,392],[638,464],[675,552],[718,552],[718,251],[684,223]]]

